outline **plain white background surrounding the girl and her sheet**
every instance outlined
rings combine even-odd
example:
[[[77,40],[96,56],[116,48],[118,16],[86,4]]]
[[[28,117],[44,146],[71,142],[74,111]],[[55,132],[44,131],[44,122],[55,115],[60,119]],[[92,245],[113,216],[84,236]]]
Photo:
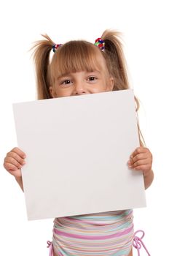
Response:
[[[94,42],[105,29],[122,31],[130,84],[141,99],[140,123],[154,156],[147,207],[135,209],[135,230],[153,256],[168,254],[168,1],[1,1],[0,255],[48,255],[52,219],[28,222],[23,192],[4,170],[17,146],[13,102],[36,99],[32,42],[47,33],[56,43]],[[134,250],[134,255],[137,253]],[[142,249],[141,255],[146,255]]]

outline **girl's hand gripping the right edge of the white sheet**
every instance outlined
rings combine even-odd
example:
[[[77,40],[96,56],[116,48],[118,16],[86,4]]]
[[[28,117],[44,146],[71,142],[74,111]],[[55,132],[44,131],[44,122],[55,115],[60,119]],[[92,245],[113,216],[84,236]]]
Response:
[[[138,147],[130,156],[128,166],[134,170],[142,170],[144,177],[149,176],[152,170],[152,153],[149,148]]]

